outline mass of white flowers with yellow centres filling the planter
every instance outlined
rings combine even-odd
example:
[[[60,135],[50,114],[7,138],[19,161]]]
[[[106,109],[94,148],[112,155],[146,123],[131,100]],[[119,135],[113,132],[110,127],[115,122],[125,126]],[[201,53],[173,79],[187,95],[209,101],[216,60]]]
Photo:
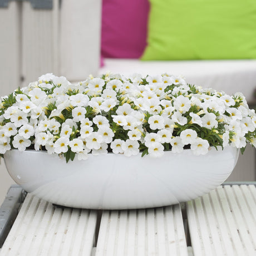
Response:
[[[72,85],[48,73],[2,97],[0,154],[47,150],[66,160],[93,155],[256,145],[256,115],[242,93],[229,96],[167,74],[89,76]]]

